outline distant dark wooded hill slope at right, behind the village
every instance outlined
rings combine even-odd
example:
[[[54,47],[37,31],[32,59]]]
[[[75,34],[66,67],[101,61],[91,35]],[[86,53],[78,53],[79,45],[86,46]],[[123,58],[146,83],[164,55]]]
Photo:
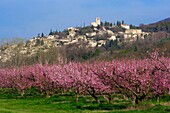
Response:
[[[166,18],[164,20],[158,21],[156,23],[148,24],[148,25],[140,25],[139,26],[145,32],[159,32],[165,31],[170,33],[170,18]]]

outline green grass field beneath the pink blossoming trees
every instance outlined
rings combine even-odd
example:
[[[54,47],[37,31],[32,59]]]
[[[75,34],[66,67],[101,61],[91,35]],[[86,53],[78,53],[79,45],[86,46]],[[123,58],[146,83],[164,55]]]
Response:
[[[9,91],[0,91],[0,113],[168,113],[170,112],[170,97],[162,97],[161,102],[144,101],[139,106],[133,106],[129,100],[115,95],[113,103],[108,103],[102,97],[96,103],[89,95],[81,96],[75,101],[74,94],[55,95],[45,98],[42,95],[26,95],[19,97]]]

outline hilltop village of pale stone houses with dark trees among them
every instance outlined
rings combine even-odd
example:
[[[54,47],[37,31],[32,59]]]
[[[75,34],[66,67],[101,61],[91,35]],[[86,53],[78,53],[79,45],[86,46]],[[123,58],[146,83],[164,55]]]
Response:
[[[141,29],[136,29],[124,22],[112,25],[109,22],[101,22],[100,18],[97,17],[95,22],[90,23],[90,26],[70,27],[62,32],[51,31],[48,36],[42,34],[26,42],[3,46],[0,49],[0,61],[10,60],[15,55],[16,50],[22,55],[32,56],[40,49],[46,52],[52,47],[71,44],[77,44],[78,47],[85,45],[86,48],[102,47],[111,40],[118,43],[131,43],[143,40],[148,35],[148,32],[142,32]]]

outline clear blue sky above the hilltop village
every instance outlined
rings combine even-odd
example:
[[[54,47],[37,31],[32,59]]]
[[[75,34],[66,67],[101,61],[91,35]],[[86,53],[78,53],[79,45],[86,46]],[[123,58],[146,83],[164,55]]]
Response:
[[[154,23],[170,17],[169,5],[170,0],[0,0],[0,41],[90,25],[96,17],[136,26]]]

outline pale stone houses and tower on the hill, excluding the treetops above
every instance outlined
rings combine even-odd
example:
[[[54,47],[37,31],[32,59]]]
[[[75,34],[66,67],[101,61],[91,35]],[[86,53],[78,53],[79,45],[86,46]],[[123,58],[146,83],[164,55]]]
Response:
[[[141,29],[130,29],[127,24],[121,24],[124,32],[114,32],[112,29],[106,29],[101,26],[101,20],[96,18],[95,22],[91,22],[92,31],[84,34],[78,33],[82,28],[70,27],[67,29],[66,35],[49,35],[47,37],[34,37],[28,40],[25,45],[20,49],[19,53],[33,55],[38,50],[48,51],[51,47],[61,47],[69,44],[78,44],[81,42],[86,43],[86,47],[101,47],[105,45],[108,40],[122,40],[124,42],[133,42],[138,39],[144,39],[149,33],[142,32]],[[100,28],[99,28],[100,26]],[[110,26],[114,28],[116,26]],[[15,47],[14,47],[15,46]],[[17,46],[13,45],[6,50],[0,50],[0,61],[7,61],[13,55],[13,49]]]

